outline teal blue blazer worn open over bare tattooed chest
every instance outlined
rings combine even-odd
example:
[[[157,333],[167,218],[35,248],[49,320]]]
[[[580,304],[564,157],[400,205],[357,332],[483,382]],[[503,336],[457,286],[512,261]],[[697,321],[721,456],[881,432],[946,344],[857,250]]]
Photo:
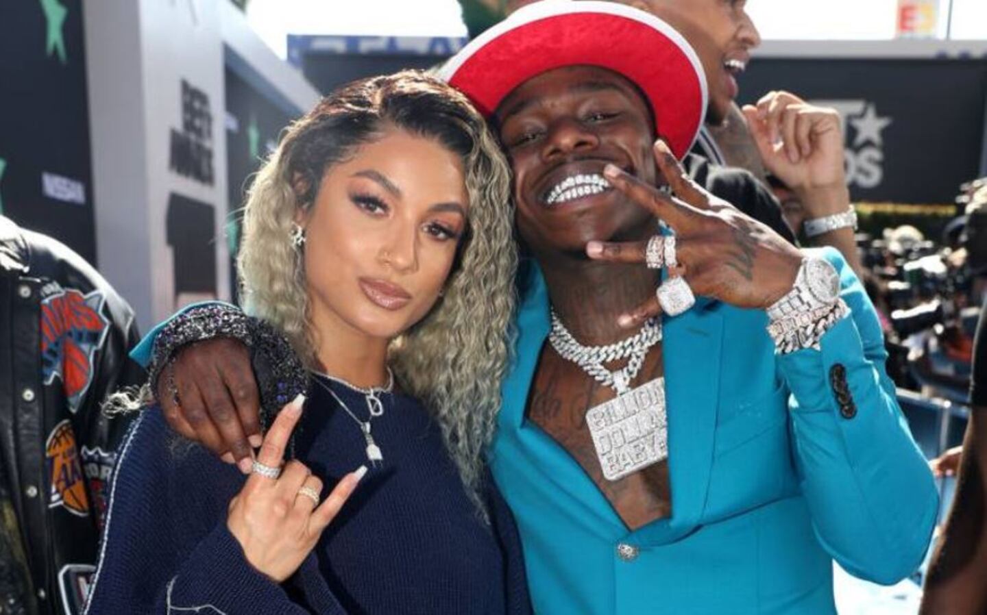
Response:
[[[920,565],[938,510],[933,478],[884,371],[873,306],[839,253],[820,252],[851,308],[821,350],[776,355],[760,309],[700,299],[663,318],[672,513],[637,531],[525,419],[549,333],[544,280],[525,264],[491,464],[520,528],[536,612],[832,614],[834,559],[880,583]],[[837,365],[856,408],[849,418]]]

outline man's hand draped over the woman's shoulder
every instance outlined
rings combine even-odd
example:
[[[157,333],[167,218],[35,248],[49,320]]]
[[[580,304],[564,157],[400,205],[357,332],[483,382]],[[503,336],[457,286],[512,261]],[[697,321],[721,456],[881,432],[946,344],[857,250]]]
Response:
[[[155,391],[176,432],[251,471],[261,436],[261,400],[242,342],[215,338],[181,349]]]

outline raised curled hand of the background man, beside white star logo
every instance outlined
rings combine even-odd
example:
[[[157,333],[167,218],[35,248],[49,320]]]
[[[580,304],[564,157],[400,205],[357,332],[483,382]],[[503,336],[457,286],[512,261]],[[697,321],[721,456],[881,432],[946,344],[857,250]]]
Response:
[[[743,107],[764,166],[792,189],[844,187],[843,128],[834,108],[771,92]]]

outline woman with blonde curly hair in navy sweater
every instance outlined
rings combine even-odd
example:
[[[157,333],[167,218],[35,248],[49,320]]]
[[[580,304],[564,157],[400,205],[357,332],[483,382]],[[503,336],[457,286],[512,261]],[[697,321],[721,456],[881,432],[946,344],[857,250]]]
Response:
[[[267,417],[247,477],[142,413],[87,612],[529,612],[482,457],[514,304],[508,196],[482,116],[417,72],[291,125],[239,264],[245,310],[291,346],[266,401],[304,392]]]

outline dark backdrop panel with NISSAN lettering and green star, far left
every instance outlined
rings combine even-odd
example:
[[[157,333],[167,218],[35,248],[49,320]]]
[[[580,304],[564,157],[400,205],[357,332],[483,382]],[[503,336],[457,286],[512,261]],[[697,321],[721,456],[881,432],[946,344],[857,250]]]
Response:
[[[0,213],[95,262],[81,0],[0,2]]]

